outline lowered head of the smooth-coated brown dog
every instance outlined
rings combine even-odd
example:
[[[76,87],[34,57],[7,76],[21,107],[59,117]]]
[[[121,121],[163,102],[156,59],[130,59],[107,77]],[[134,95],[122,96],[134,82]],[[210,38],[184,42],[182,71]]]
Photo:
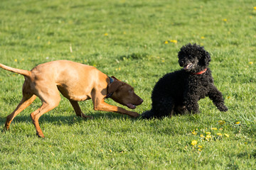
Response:
[[[113,93],[110,98],[112,98],[117,103],[132,109],[142,104],[142,98],[134,93],[134,88],[132,86],[119,81],[119,79],[115,77],[112,77],[112,79],[114,79],[114,81],[109,84],[108,87],[108,93]]]

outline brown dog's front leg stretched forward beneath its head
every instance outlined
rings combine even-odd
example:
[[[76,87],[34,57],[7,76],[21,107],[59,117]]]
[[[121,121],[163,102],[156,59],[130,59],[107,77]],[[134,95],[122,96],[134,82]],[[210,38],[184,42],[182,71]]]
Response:
[[[122,113],[125,115],[129,115],[133,118],[137,118],[139,116],[139,113],[127,111],[124,108],[119,108],[117,106],[112,106],[108,103],[105,103],[104,101],[101,103],[93,103],[94,104],[94,110],[95,111],[109,111],[109,112],[116,112],[116,113]]]

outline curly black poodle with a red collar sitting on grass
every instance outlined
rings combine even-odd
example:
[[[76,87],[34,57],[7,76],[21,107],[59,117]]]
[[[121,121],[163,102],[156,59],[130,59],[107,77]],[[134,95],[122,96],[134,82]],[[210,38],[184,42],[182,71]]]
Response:
[[[220,111],[228,111],[223,96],[213,84],[208,68],[210,54],[203,47],[188,44],[178,52],[183,69],[164,75],[152,91],[152,108],[142,118],[162,118],[174,113],[198,113],[198,101],[208,96]]]

